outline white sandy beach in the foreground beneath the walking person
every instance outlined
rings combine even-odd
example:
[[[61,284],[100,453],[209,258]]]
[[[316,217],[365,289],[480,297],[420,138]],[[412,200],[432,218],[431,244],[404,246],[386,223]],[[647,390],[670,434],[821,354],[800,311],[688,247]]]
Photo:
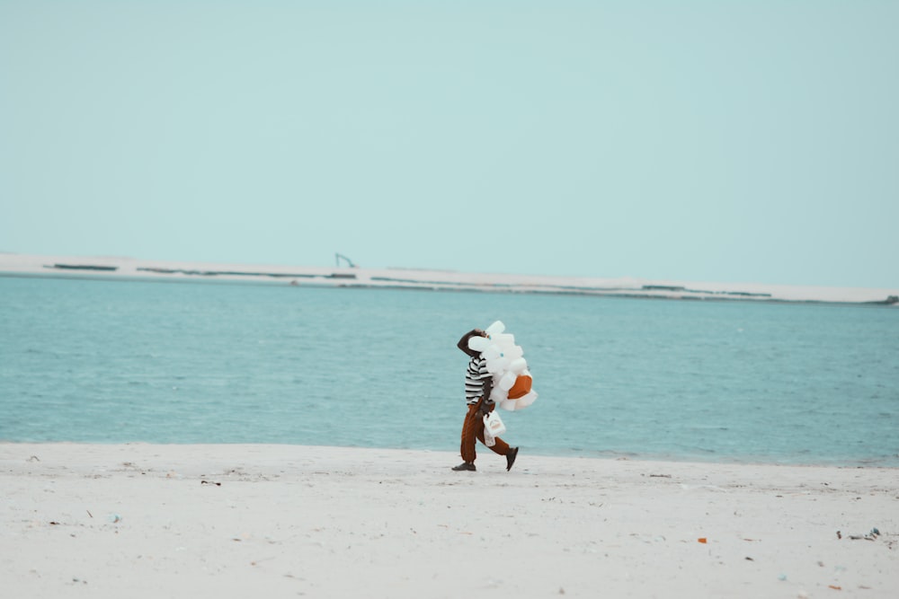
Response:
[[[2,596],[899,596],[897,469],[457,462],[0,444]]]

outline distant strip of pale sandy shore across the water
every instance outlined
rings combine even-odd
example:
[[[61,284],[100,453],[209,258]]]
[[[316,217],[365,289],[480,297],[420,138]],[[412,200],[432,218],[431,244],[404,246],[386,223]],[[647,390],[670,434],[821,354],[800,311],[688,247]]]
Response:
[[[237,265],[0,253],[0,277],[171,282],[255,282],[267,285],[426,289],[643,299],[823,304],[899,304],[899,289],[696,283],[635,277],[548,277],[427,269],[361,269]]]

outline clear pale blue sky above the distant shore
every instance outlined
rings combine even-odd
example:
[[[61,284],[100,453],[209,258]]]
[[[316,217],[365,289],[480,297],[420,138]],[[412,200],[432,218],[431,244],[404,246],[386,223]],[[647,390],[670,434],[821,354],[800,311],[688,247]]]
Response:
[[[0,0],[0,251],[899,286],[899,2]]]

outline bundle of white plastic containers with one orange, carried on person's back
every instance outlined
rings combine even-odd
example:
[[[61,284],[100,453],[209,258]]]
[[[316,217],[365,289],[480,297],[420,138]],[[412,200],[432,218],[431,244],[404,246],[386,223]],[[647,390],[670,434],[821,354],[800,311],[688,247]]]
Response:
[[[537,400],[532,391],[532,378],[524,350],[515,345],[515,336],[505,332],[505,325],[496,321],[486,328],[486,337],[468,339],[468,348],[479,351],[487,360],[487,371],[493,374],[494,389],[490,399],[503,410],[523,410]]]

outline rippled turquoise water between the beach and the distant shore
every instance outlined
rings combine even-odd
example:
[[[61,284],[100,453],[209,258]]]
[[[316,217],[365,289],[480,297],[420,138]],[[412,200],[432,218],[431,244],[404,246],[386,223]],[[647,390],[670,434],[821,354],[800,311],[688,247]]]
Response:
[[[497,319],[522,455],[899,466],[895,308],[37,277],[0,277],[0,441],[456,451]]]

